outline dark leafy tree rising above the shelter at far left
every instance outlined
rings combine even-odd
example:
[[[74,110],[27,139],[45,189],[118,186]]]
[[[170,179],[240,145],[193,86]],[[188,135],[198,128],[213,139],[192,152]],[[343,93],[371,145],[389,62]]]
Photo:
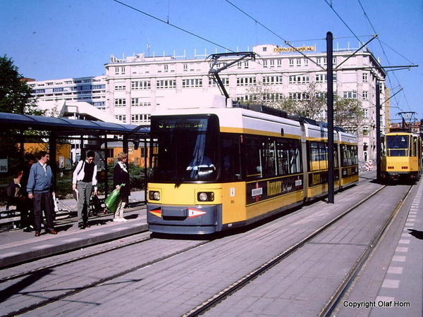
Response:
[[[42,115],[42,111],[37,109],[31,87],[6,55],[0,56],[0,111]]]

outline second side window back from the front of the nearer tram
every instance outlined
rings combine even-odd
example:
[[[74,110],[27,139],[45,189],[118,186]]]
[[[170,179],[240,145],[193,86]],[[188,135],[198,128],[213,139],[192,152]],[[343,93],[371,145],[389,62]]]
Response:
[[[243,166],[247,178],[262,176],[261,147],[259,137],[243,136]]]

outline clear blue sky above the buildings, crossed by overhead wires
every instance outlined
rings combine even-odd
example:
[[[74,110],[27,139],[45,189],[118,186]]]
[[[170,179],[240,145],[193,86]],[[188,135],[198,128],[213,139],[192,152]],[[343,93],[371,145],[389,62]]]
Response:
[[[367,47],[390,66],[391,118],[423,118],[423,0],[0,0],[0,31],[0,56],[35,80],[104,75],[111,55],[193,58],[285,42],[321,52],[327,32],[334,49],[378,34]]]

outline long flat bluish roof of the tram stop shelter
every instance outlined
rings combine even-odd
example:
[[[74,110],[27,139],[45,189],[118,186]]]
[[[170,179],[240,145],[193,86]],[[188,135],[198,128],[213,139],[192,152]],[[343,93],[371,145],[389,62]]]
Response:
[[[124,123],[108,123],[103,121],[80,120],[71,118],[54,118],[44,116],[23,115],[18,113],[0,113],[0,130],[24,129],[60,132],[103,132],[117,135],[148,134],[149,127],[128,125]]]

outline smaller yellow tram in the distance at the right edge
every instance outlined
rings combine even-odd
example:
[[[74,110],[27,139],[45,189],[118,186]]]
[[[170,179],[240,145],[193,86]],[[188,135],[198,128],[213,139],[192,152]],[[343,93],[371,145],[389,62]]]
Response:
[[[382,141],[381,178],[417,181],[423,173],[422,138],[407,131],[388,132]]]

